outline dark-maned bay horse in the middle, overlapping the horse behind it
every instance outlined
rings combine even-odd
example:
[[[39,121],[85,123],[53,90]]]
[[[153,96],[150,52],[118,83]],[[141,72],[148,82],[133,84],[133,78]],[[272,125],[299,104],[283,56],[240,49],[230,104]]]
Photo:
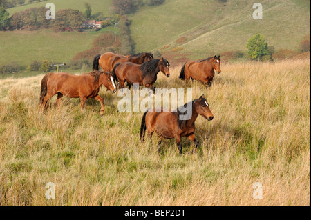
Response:
[[[124,83],[130,85],[139,83],[140,86],[145,86],[153,90],[156,94],[156,87],[153,83],[157,81],[158,73],[161,71],[169,77],[169,61],[164,59],[153,59],[142,65],[135,63],[118,63],[113,68],[113,77],[116,77],[120,83],[120,88],[124,88]]]

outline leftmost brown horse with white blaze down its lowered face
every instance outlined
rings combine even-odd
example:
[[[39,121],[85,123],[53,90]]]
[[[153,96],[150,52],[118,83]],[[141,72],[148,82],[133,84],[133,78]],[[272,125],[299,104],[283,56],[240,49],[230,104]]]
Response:
[[[100,101],[102,108],[100,115],[104,114],[104,100],[98,92],[104,85],[108,90],[115,93],[116,87],[111,72],[89,72],[76,76],[66,72],[50,72],[44,76],[41,81],[40,103],[41,110],[44,111],[48,99],[57,94],[57,107],[62,100],[63,95],[70,98],[80,98],[81,108],[84,108],[86,99],[93,98]]]

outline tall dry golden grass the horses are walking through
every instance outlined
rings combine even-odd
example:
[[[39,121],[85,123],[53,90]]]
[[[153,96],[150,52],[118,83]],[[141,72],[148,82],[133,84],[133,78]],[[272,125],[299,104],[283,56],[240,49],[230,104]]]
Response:
[[[211,88],[179,69],[156,86],[205,94],[215,117],[198,118],[200,149],[183,139],[182,157],[172,140],[161,155],[156,137],[140,143],[142,114],[104,89],[104,117],[78,99],[41,114],[43,75],[1,80],[0,206],[310,206],[310,61],[225,64]]]

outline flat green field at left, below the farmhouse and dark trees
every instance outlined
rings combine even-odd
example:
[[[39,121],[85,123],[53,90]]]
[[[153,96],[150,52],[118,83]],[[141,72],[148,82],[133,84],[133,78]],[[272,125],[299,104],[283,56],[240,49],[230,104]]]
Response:
[[[104,28],[99,32],[53,32],[52,30],[25,31],[15,30],[0,32],[0,63],[18,61],[28,66],[32,61],[67,63],[75,54],[92,48],[92,42],[105,31],[115,28]]]

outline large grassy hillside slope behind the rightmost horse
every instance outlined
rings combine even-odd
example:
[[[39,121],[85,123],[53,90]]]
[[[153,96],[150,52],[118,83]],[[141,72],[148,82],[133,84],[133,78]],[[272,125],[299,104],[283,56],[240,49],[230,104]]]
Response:
[[[246,52],[249,37],[260,32],[276,49],[297,50],[310,33],[310,1],[261,1],[263,20],[254,20],[257,1],[167,0],[133,15],[136,49],[206,57],[231,50]],[[185,41],[176,43],[180,37]]]

